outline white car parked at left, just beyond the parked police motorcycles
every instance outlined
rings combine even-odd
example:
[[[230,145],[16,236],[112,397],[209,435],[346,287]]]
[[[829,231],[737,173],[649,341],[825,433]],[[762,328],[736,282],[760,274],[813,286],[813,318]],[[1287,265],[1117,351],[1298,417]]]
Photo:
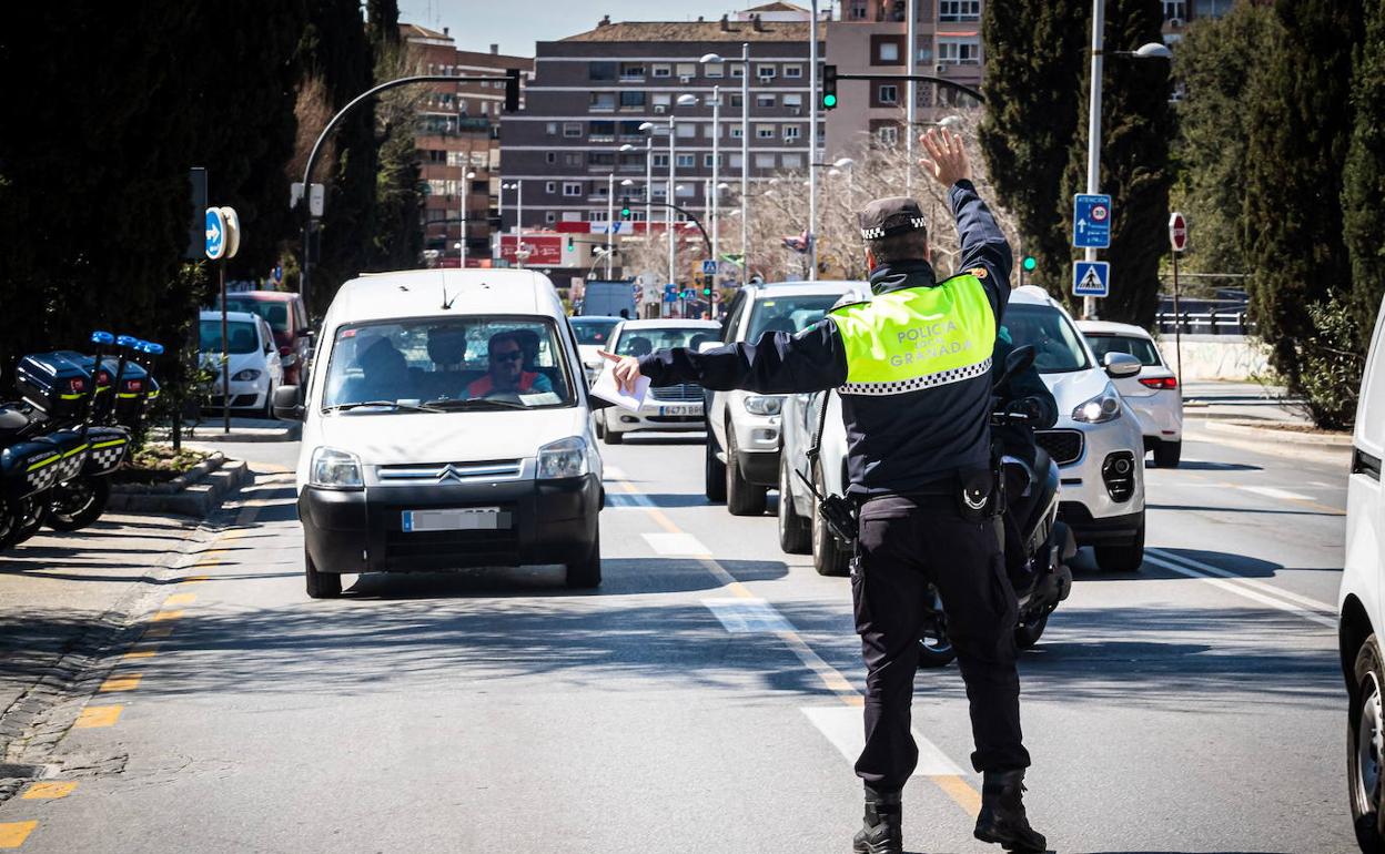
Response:
[[[233,410],[255,410],[273,418],[274,392],[284,385],[284,364],[265,318],[249,311],[226,313],[229,389],[222,382],[222,311],[202,311],[198,327],[198,364],[216,375],[206,406],[220,410],[229,396]]]

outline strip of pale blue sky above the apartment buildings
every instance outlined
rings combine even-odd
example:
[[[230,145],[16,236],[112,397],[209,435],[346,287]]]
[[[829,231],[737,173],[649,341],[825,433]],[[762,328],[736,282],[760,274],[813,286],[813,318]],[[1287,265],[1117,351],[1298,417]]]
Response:
[[[399,21],[440,30],[452,28],[458,50],[533,55],[535,42],[586,32],[601,15],[612,21],[716,21],[763,0],[399,0]]]

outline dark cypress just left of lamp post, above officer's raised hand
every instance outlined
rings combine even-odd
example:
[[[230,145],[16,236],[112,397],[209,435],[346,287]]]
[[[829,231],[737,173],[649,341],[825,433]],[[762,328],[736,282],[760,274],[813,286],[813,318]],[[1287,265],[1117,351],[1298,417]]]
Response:
[[[1024,245],[1017,253],[1035,256],[1032,281],[1054,292],[1072,278],[1061,184],[1086,93],[1087,21],[1084,4],[1050,0],[988,3],[982,12],[981,148],[999,201],[1018,219]]]

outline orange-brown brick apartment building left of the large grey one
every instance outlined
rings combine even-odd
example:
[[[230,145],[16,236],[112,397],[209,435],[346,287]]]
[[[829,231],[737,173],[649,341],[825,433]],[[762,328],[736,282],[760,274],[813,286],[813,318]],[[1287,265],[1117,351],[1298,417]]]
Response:
[[[503,76],[518,68],[532,76],[533,60],[500,53],[458,50],[450,32],[400,25],[414,71],[446,76]],[[500,194],[500,113],[504,80],[435,83],[418,105],[416,134],[422,180],[424,257],[434,266],[457,266],[465,223],[467,263],[490,257],[489,219]]]

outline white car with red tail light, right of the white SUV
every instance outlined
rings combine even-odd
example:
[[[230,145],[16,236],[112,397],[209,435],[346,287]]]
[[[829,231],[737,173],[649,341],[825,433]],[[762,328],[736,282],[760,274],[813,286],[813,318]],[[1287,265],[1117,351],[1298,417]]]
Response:
[[[1140,360],[1140,372],[1116,379],[1116,390],[1134,410],[1144,432],[1144,450],[1154,453],[1154,464],[1179,468],[1183,455],[1183,389],[1154,338],[1140,327],[1104,320],[1079,320],[1078,328],[1097,358],[1105,358],[1107,353],[1127,353]]]

